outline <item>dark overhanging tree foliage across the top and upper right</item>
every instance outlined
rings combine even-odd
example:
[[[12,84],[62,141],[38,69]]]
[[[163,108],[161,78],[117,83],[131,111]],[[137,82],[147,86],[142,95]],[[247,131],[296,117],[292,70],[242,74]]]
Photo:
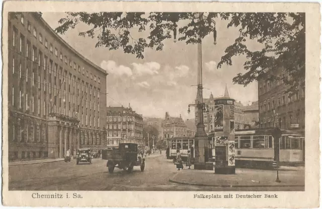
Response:
[[[79,23],[90,29],[80,36],[96,37],[96,47],[110,50],[122,48],[125,53],[144,58],[146,48],[162,50],[166,39],[195,44],[212,34],[216,42],[215,21],[227,20],[227,28],[236,27],[239,34],[225,49],[217,67],[232,65],[234,56],[246,55],[245,73],[233,78],[247,86],[253,81],[283,80],[289,91],[296,92],[305,77],[305,14],[304,13],[66,13],[55,29],[64,34]],[[133,31],[149,31],[147,37],[135,39]],[[218,31],[220,33],[220,31]],[[249,40],[262,44],[261,50],[250,50]],[[280,78],[267,69],[284,68],[289,77]],[[289,79],[287,79],[289,78]]]

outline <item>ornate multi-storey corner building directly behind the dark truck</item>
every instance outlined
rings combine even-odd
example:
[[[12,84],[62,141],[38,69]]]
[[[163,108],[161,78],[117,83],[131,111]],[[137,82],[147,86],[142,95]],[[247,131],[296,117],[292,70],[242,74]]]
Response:
[[[107,107],[107,147],[135,143],[144,147],[143,117],[131,107]]]

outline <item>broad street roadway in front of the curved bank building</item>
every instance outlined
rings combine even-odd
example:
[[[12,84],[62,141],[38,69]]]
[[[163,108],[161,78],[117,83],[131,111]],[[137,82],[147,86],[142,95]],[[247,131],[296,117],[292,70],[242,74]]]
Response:
[[[258,170],[248,169],[251,175]],[[169,180],[178,173],[196,172],[177,171],[172,161],[165,155],[151,155],[146,158],[145,170],[134,167],[133,173],[116,168],[108,173],[106,161],[93,159],[92,164],[76,165],[71,162],[51,162],[29,165],[9,166],[9,190],[92,190],[92,191],[301,191],[297,187],[217,187],[182,185]],[[202,171],[198,171],[202,172]],[[205,171],[206,172],[206,171]],[[207,171],[209,172],[209,171]],[[266,171],[261,171],[266,172]],[[182,175],[180,173],[180,175]],[[215,175],[215,174],[213,174]],[[195,176],[196,178],[198,176]],[[214,176],[215,178],[215,176]]]

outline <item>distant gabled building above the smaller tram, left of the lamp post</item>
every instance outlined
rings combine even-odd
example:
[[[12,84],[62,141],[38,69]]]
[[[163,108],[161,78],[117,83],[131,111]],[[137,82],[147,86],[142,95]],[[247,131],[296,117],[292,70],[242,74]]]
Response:
[[[162,139],[172,138],[176,136],[187,136],[187,125],[180,117],[170,117],[166,112],[166,118],[162,122]]]

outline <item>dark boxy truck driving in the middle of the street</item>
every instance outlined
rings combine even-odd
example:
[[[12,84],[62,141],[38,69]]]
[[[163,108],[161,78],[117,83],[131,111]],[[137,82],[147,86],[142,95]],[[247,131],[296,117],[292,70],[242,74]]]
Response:
[[[116,148],[103,150],[102,159],[107,160],[109,173],[113,173],[114,168],[132,173],[134,166],[140,166],[143,172],[145,167],[145,159],[138,156],[137,144],[133,143],[121,143]]]

